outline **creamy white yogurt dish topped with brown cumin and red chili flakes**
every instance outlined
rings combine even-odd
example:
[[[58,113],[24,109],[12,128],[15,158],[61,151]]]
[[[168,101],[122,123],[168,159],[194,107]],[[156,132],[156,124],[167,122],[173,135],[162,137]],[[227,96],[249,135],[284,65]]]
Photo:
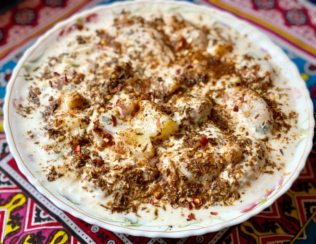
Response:
[[[216,223],[289,173],[300,139],[289,81],[246,36],[190,13],[99,16],[64,33],[15,107],[40,179],[77,207]]]

